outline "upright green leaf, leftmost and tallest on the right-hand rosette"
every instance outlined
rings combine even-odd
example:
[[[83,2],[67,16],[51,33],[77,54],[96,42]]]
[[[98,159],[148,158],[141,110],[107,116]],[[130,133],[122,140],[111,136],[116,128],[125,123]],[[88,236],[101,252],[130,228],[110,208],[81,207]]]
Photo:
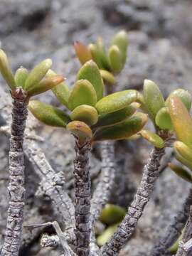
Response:
[[[164,97],[159,87],[151,80],[144,80],[144,104],[151,119],[155,119],[157,112],[165,107]]]

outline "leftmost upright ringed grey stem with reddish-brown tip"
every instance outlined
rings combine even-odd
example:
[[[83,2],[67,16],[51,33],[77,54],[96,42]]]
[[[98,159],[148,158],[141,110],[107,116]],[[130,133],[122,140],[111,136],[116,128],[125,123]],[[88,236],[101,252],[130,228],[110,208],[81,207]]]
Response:
[[[11,138],[9,151],[9,209],[6,235],[1,256],[17,256],[23,228],[23,208],[25,205],[23,134],[26,127],[26,95],[21,87],[13,95]]]

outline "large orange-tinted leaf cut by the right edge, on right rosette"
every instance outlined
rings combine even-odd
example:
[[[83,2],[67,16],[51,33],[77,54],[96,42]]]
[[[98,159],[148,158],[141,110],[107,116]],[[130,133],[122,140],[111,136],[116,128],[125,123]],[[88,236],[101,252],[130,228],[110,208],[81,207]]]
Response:
[[[176,96],[169,98],[168,106],[178,140],[192,149],[192,119],[188,110]]]

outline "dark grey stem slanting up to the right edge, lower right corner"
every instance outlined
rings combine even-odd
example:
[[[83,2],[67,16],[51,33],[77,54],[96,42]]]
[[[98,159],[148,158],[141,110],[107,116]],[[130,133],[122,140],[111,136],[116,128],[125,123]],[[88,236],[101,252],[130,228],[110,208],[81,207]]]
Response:
[[[151,256],[160,256],[165,255],[168,252],[171,245],[174,245],[174,242],[181,235],[181,232],[184,228],[186,220],[188,219],[190,206],[192,204],[192,189],[190,189],[186,200],[183,203],[183,207],[177,215],[174,217],[174,220],[168,226],[164,236],[159,240],[159,242],[151,250]]]

